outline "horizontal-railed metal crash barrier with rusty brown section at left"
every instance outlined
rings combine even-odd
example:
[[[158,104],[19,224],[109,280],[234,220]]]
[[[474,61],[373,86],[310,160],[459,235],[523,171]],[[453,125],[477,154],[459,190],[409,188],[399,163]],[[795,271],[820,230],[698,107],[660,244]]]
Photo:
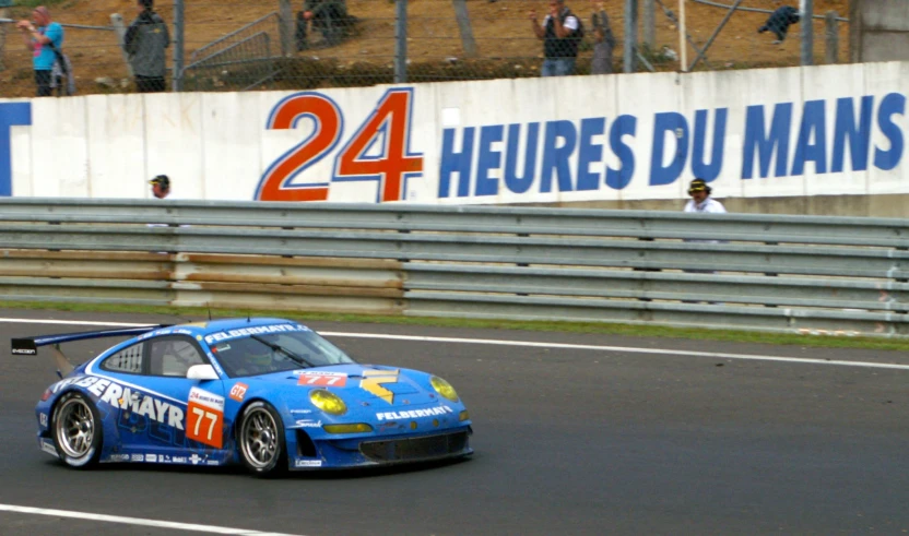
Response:
[[[909,221],[0,202],[0,299],[909,335]]]

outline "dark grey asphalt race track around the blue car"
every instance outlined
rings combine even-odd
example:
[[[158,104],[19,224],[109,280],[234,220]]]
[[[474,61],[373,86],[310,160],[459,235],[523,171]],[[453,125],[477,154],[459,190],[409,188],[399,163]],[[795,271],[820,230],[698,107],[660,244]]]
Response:
[[[163,317],[2,311],[118,322]],[[257,480],[239,468],[70,471],[35,444],[44,356],[0,358],[0,505],[302,535],[909,533],[909,355],[615,336],[314,323],[330,332],[575,343],[657,354],[331,337],[433,371],[474,421],[461,463]],[[0,322],[12,336],[83,331]],[[70,345],[73,360],[107,346]],[[0,534],[193,534],[0,512]],[[201,534],[201,533],[199,533]]]

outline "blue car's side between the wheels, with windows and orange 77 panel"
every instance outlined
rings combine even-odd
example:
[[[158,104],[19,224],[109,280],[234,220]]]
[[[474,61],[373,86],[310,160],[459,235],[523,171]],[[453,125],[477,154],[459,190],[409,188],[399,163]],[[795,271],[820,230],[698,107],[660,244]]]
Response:
[[[131,461],[200,463],[223,460],[224,386],[221,380],[190,380],[194,365],[210,365],[186,335],[161,335],[127,347],[101,364],[121,383],[117,433]],[[117,394],[117,393],[115,393]]]

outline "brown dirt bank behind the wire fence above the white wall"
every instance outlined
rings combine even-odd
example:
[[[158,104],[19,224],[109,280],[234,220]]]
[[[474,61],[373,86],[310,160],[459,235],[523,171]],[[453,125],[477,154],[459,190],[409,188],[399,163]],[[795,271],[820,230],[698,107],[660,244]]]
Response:
[[[28,5],[2,8],[0,0],[2,97],[28,96],[34,90],[29,52],[12,23],[27,19],[38,2],[22,1]],[[842,10],[838,0],[686,0],[684,49],[677,0],[565,4],[585,31],[575,65],[578,75],[592,70],[597,28],[602,27],[593,15],[600,12],[616,39],[612,72],[786,67],[848,58],[848,21],[829,9]],[[805,14],[782,39],[772,27],[758,33],[782,5],[804,7]],[[50,5],[54,20],[64,27],[63,49],[80,93],[135,91],[135,73],[122,44],[123,26],[137,11],[118,7],[119,27],[109,4]],[[154,9],[169,29],[168,90],[244,91],[539,76],[544,48],[529,12],[535,10],[542,21],[548,2],[157,0]]]

